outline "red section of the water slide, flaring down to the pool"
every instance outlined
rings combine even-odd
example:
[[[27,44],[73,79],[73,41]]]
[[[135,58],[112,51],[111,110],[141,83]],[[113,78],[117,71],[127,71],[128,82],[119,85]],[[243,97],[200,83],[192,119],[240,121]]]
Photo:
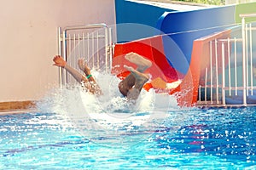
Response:
[[[113,74],[124,78],[129,74],[129,71],[125,70],[124,65],[136,67],[136,65],[132,65],[125,59],[125,54],[135,52],[143,55],[153,63],[152,67],[146,71],[146,73],[151,75],[152,81],[161,80],[166,82],[166,84],[178,82],[176,86],[171,87],[169,85],[168,88],[165,87],[166,89],[162,88],[162,90],[160,89],[159,81],[157,83],[159,87],[154,86],[152,83],[147,83],[144,86],[146,90],[155,88],[155,90],[160,93],[176,94],[179,105],[194,105],[198,97],[201,72],[210,65],[210,61],[207,57],[209,55],[209,42],[216,38],[230,37],[230,30],[219,31],[207,37],[196,39],[193,42],[190,65],[185,75],[174,69],[168,59],[166,59],[163,48],[163,37],[165,36],[148,37],[133,42],[116,44],[113,56]]]

